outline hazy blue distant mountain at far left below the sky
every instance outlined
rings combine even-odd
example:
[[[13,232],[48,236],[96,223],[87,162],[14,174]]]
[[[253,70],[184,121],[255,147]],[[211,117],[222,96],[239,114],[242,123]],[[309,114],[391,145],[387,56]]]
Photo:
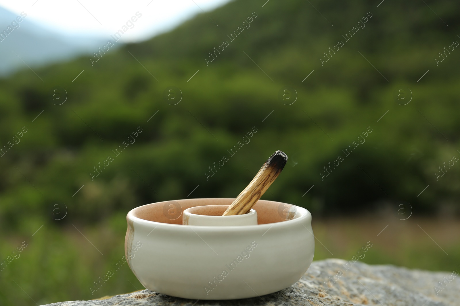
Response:
[[[0,7],[0,76],[19,68],[42,66],[91,54],[105,39],[64,36]],[[20,20],[20,22],[19,22]]]

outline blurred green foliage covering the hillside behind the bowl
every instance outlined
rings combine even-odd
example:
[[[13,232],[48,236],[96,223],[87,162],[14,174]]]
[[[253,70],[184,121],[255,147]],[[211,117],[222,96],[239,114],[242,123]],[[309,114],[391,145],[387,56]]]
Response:
[[[23,295],[19,285],[35,299],[46,296],[43,302],[92,298],[86,287],[123,256],[127,211],[161,200],[236,197],[275,150],[288,154],[288,164],[263,198],[304,206],[314,218],[397,201],[410,202],[414,215],[458,213],[460,166],[439,180],[435,173],[460,156],[460,51],[438,66],[434,59],[460,41],[460,4],[427,2],[446,26],[418,1],[313,3],[322,14],[308,2],[264,2],[230,2],[208,13],[219,26],[201,14],[149,41],[111,48],[93,66],[83,57],[34,69],[43,82],[30,69],[0,80],[0,147],[27,128],[0,157],[1,258],[24,240],[30,245],[1,272],[0,301],[16,301],[8,293]],[[322,66],[323,52],[369,11],[365,28]],[[209,52],[253,12],[250,28],[207,65]],[[170,86],[183,95],[177,105],[165,98]],[[297,92],[292,105],[279,98],[286,87]],[[401,89],[405,100],[397,99]],[[138,127],[135,143],[115,156]],[[253,127],[250,143],[230,156]],[[368,127],[365,143],[322,180],[324,167]],[[110,155],[114,161],[92,180]],[[207,179],[222,156],[230,160]],[[56,220],[63,203],[67,215]],[[373,256],[406,264],[415,254]],[[448,269],[441,258],[432,262],[423,268]],[[140,289],[123,269],[101,292]],[[10,277],[31,281],[17,286]]]

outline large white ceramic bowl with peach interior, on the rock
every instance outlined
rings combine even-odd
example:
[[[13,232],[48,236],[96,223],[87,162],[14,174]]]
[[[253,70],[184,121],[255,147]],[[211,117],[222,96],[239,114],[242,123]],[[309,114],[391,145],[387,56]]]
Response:
[[[182,212],[234,199],[186,199],[139,206],[127,214],[125,253],[145,288],[195,300],[242,299],[295,284],[313,260],[311,214],[259,200],[258,225],[182,225]]]

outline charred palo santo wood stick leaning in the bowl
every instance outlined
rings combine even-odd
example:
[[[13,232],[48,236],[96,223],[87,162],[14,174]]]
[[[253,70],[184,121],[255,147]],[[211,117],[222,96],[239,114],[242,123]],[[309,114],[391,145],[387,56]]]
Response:
[[[265,161],[264,165],[257,172],[251,183],[231,203],[222,216],[242,215],[247,213],[251,207],[260,199],[265,191],[275,181],[283,170],[288,156],[278,150]]]

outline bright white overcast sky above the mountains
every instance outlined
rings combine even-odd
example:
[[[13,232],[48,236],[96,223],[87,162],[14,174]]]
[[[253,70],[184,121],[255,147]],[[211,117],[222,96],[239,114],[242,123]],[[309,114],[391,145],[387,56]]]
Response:
[[[164,32],[229,0],[0,0],[0,6],[45,28],[66,34],[114,34],[136,12],[142,14],[122,37],[135,42]],[[212,17],[212,16],[210,16]],[[216,24],[209,19],[210,26]]]

